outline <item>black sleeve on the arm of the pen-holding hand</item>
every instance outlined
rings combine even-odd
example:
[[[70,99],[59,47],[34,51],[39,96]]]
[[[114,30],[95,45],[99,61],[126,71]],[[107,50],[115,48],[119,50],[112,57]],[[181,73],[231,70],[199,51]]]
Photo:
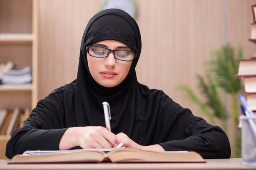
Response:
[[[12,133],[6,144],[6,157],[11,159],[26,150],[59,150],[64,128],[61,94],[54,94],[38,102],[23,127]]]

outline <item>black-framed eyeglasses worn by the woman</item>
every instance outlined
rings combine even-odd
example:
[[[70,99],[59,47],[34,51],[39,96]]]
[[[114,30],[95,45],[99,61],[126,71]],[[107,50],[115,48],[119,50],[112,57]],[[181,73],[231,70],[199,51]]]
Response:
[[[94,45],[86,47],[86,51],[89,53],[90,56],[97,58],[108,57],[108,55],[112,51],[114,57],[122,61],[132,61],[137,56],[137,53],[131,50],[111,50],[105,47]]]

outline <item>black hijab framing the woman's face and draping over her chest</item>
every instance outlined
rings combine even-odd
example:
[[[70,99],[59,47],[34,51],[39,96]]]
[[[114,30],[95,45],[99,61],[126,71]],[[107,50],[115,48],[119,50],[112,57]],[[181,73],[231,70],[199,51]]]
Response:
[[[128,76],[116,87],[106,88],[99,85],[91,76],[85,46],[103,40],[116,40],[128,45],[137,52]],[[140,58],[141,37],[135,20],[125,11],[107,9],[94,15],[85,28],[76,79],[75,106],[78,125],[84,120],[89,125],[105,127],[102,102],[108,102],[111,108],[111,129],[114,133],[131,134],[134,114],[137,112],[137,82],[135,66]],[[90,56],[88,56],[90,57]]]

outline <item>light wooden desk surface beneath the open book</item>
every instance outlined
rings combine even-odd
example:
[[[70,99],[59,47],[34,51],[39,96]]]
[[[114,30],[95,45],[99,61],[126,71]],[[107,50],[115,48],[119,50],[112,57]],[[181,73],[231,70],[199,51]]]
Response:
[[[0,160],[0,170],[241,170],[256,169],[241,165],[241,159],[207,159],[207,163],[129,163],[129,164],[7,164]]]

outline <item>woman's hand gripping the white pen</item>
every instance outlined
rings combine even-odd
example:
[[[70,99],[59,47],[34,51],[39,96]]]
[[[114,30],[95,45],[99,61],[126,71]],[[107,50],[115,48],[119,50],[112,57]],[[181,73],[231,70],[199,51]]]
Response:
[[[118,142],[115,134],[102,126],[70,127],[62,136],[59,149],[67,150],[75,146],[83,149],[112,148]]]

